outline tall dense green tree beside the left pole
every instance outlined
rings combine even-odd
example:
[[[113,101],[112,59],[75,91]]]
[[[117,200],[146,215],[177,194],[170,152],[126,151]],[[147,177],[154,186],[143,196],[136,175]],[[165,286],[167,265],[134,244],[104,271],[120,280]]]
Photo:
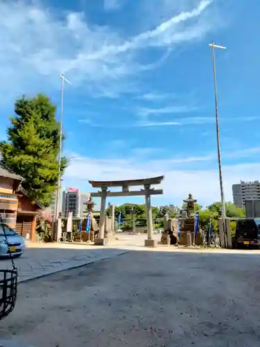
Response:
[[[49,205],[58,181],[60,124],[55,105],[44,94],[23,97],[15,103],[8,141],[0,143],[3,164],[26,179],[25,188],[33,201]],[[67,165],[62,158],[61,173]]]

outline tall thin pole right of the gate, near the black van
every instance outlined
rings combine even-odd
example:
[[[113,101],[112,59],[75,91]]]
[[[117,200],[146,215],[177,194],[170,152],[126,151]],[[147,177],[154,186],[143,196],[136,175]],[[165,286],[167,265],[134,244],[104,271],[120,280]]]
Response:
[[[215,62],[214,41],[212,41],[212,62],[213,62],[213,75],[214,75],[214,94],[215,94],[216,135],[217,135],[217,147],[218,147],[219,185],[220,185],[220,196],[221,196],[221,204],[222,204],[223,230],[224,230],[224,235],[225,235],[225,243],[227,243],[227,230],[225,227],[225,218],[226,218],[225,197],[224,197],[224,191],[223,191],[220,140],[219,140],[219,126],[218,126],[218,92],[217,92],[217,84],[216,84],[216,62]]]

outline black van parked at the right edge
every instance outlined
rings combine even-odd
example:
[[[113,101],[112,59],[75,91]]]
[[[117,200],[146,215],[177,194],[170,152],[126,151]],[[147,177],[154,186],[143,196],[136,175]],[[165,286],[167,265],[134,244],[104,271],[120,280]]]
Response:
[[[260,219],[244,218],[236,221],[236,245],[260,246]]]

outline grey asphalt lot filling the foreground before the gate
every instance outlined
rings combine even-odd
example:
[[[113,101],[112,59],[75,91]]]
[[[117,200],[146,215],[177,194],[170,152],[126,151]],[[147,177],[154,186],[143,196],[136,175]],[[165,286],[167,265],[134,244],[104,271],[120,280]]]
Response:
[[[259,261],[130,251],[21,283],[0,336],[35,347],[258,347]]]

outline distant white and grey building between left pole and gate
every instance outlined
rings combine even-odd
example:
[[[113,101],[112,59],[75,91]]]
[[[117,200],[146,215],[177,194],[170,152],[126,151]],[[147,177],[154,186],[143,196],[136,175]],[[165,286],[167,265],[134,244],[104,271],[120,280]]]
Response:
[[[85,217],[87,214],[87,201],[90,193],[80,193],[76,188],[69,188],[62,194],[62,214],[67,217],[72,212],[73,217]]]

